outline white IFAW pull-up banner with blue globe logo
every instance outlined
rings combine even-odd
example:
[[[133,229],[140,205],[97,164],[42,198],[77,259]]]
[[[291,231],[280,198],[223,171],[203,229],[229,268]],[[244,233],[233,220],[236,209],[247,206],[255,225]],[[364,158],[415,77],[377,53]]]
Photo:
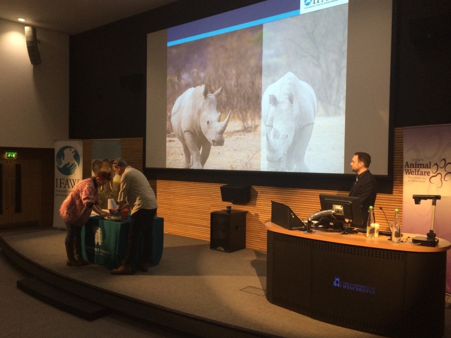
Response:
[[[83,143],[81,140],[55,140],[55,202],[53,228],[65,229],[60,217],[61,203],[83,177]]]

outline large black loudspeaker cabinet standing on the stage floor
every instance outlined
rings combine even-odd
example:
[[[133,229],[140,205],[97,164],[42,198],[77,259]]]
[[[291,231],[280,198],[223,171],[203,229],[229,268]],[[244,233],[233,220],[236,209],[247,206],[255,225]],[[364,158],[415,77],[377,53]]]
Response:
[[[234,252],[246,248],[245,210],[218,210],[210,214],[210,248]]]

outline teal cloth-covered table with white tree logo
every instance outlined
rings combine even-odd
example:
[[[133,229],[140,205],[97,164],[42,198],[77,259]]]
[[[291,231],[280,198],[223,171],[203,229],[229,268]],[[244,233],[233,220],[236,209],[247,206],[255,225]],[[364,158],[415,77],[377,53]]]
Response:
[[[163,218],[155,216],[153,220],[153,245],[149,266],[157,265],[163,254]],[[105,265],[108,269],[117,268],[125,257],[128,243],[130,216],[122,221],[106,220],[102,217],[91,217],[81,230],[83,257],[95,264]],[[132,262],[132,270],[136,267],[143,253],[143,235]]]

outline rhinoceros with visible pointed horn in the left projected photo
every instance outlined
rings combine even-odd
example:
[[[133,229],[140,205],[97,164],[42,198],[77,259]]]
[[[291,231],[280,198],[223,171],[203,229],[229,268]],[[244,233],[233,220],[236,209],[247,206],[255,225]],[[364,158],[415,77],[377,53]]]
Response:
[[[216,98],[221,89],[211,94],[205,85],[189,88],[172,108],[172,129],[183,145],[185,168],[202,169],[211,147],[224,144],[223,134],[231,111],[221,122],[221,113],[216,110]]]

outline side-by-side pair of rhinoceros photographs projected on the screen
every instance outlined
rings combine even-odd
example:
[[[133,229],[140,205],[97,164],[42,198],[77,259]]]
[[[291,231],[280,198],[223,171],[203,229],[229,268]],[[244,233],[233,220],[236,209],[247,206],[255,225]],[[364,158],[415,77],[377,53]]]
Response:
[[[166,167],[342,173],[347,4],[167,50]]]

